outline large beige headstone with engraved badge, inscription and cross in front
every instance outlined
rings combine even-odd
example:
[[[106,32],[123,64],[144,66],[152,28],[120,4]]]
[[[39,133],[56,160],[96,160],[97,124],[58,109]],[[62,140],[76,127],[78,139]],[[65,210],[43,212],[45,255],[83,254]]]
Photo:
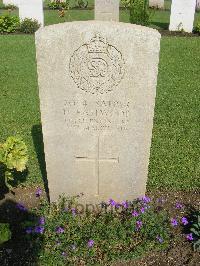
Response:
[[[160,34],[88,21],[36,32],[45,160],[51,201],[144,195]]]

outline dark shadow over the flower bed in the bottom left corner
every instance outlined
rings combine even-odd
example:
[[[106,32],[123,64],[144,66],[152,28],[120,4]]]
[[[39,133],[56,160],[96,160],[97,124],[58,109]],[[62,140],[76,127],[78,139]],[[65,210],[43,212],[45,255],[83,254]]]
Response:
[[[16,202],[7,199],[0,205],[0,225],[9,225],[11,238],[6,242],[3,239],[4,231],[0,231],[0,265],[37,265],[38,253],[42,248],[41,241],[27,238],[23,223],[37,221],[39,218],[28,210],[19,209]],[[5,241],[5,240],[4,240]]]

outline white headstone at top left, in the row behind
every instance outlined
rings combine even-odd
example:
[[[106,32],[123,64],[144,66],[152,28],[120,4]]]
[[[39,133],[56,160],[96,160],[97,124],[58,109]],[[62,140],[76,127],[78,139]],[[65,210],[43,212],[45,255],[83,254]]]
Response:
[[[44,12],[42,0],[19,0],[20,20],[25,18],[36,19],[41,26],[44,26]]]

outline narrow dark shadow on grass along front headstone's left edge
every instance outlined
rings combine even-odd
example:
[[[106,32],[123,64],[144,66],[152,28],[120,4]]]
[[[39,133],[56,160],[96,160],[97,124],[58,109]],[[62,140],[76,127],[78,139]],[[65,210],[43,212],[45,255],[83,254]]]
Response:
[[[35,146],[35,151],[37,153],[37,159],[40,166],[40,171],[42,174],[42,179],[44,182],[44,188],[47,195],[48,201],[49,198],[49,188],[48,188],[48,180],[47,180],[47,172],[46,172],[46,163],[45,163],[45,154],[44,154],[44,143],[43,143],[43,135],[42,135],[42,126],[34,125],[31,130],[33,143]]]

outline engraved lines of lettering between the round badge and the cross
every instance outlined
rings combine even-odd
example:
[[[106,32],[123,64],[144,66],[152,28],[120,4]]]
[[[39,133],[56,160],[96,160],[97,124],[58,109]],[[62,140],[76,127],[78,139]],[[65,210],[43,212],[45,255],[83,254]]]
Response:
[[[63,113],[68,129],[85,131],[129,129],[129,101],[65,100]]]

